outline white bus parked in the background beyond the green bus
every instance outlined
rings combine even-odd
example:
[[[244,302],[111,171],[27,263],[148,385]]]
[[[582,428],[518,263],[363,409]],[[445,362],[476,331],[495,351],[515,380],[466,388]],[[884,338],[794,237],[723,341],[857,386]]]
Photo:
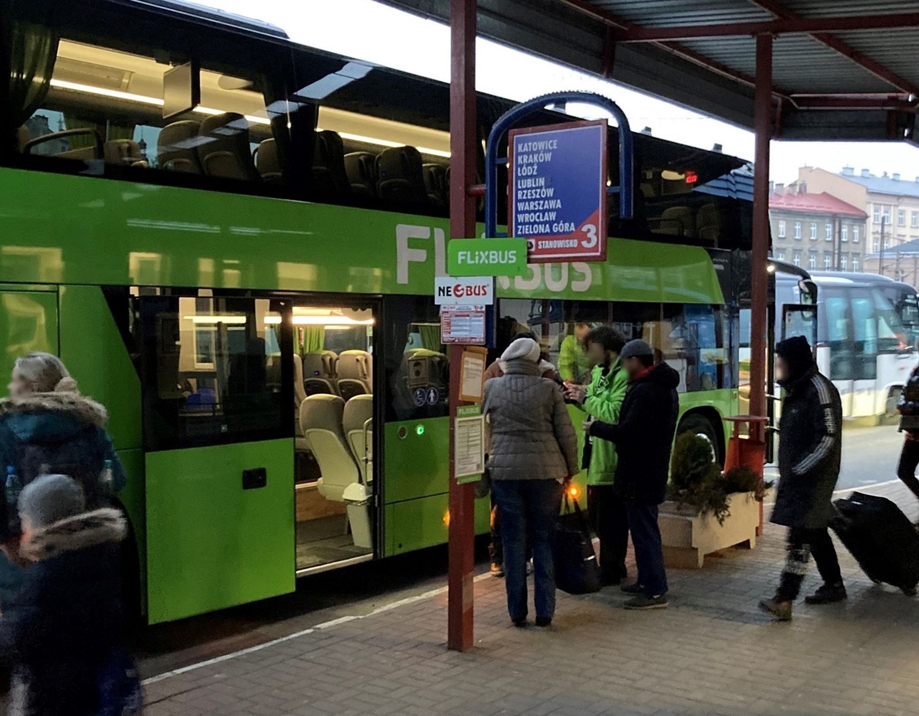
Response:
[[[777,333],[786,304],[812,300],[800,280],[780,268],[776,272]],[[836,272],[811,272],[811,281],[817,287],[817,364],[839,390],[844,417],[875,423],[895,418],[902,386],[919,363],[912,331],[888,297],[900,284],[874,274]],[[912,289],[913,308],[914,299]],[[910,308],[908,297],[901,308]]]

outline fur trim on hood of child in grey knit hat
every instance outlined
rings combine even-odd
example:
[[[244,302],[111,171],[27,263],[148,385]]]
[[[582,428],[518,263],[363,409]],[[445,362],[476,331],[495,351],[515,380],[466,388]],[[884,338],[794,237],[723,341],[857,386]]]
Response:
[[[40,562],[98,544],[119,543],[127,534],[128,524],[118,509],[96,509],[36,530],[20,552],[26,559]]]

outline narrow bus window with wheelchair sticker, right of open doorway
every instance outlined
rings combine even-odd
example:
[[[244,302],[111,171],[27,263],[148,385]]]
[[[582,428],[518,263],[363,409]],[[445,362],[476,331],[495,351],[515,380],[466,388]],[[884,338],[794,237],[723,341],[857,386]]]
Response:
[[[429,296],[391,296],[384,304],[386,420],[448,415],[448,348]]]

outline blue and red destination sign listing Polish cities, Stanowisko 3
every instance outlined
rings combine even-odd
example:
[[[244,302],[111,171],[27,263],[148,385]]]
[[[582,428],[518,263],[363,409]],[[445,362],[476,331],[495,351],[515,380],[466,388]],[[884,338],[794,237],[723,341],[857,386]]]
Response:
[[[508,132],[508,236],[529,263],[606,261],[607,120]]]

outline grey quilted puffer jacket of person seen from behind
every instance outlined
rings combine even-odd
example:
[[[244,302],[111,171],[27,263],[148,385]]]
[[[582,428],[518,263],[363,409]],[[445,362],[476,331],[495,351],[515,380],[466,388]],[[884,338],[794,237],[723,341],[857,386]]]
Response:
[[[539,373],[526,359],[508,361],[505,375],[485,383],[493,480],[563,480],[580,471],[562,390]]]

